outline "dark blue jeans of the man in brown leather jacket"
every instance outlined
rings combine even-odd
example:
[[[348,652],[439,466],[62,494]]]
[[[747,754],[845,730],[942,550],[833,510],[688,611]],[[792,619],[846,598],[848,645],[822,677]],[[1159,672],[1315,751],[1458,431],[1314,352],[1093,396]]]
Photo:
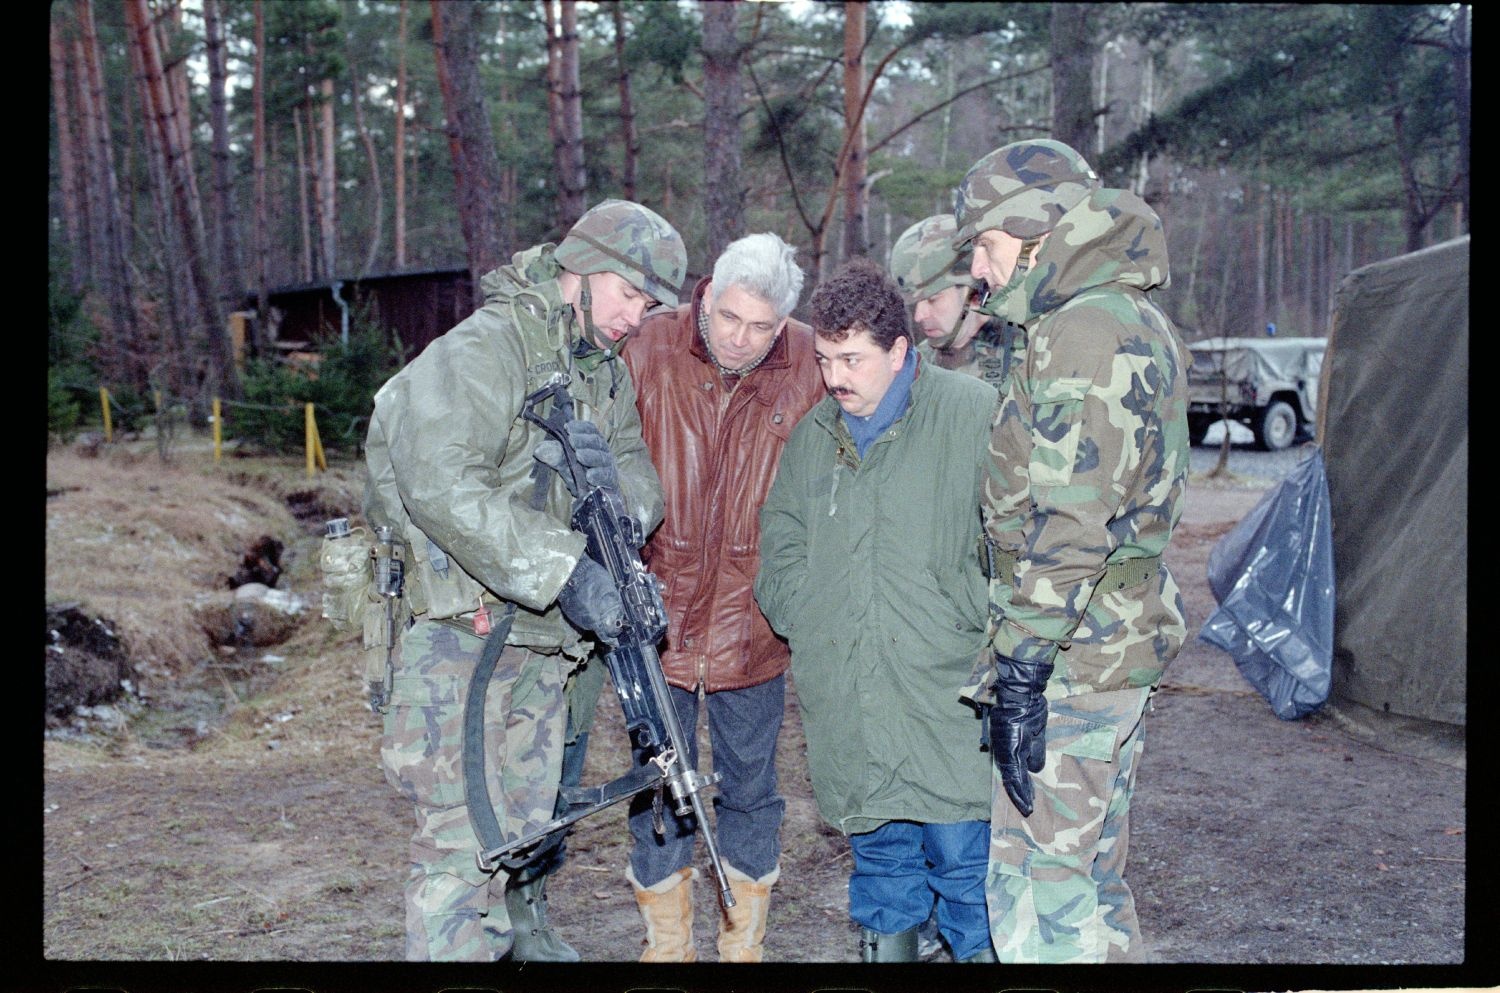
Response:
[[[782,814],[786,801],[776,792],[776,740],[786,710],[786,676],[742,690],[720,690],[705,698],[708,742],[714,771],[723,778],[705,795],[714,798],[714,838],[718,855],[735,868],[759,879],[782,860]],[[688,765],[698,768],[698,694],[672,687],[678,722],[688,740]],[[636,764],[646,760],[634,748]],[[630,801],[630,836],[634,848],[630,867],[636,882],[651,886],[693,864],[693,819],[672,813],[668,792],[662,802],[666,834],[657,834],[651,814],[656,790]],[[981,866],[980,882],[984,882]],[[988,933],[988,932],[986,932]]]

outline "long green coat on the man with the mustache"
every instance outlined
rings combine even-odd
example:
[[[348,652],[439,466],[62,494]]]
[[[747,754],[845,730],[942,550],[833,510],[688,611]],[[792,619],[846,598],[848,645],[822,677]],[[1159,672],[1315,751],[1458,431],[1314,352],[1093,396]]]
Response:
[[[906,412],[861,459],[825,398],[760,512],[756,598],[792,646],[818,808],[846,834],[990,818],[990,759],[958,690],[986,651],[976,548],[996,399],[922,362]]]

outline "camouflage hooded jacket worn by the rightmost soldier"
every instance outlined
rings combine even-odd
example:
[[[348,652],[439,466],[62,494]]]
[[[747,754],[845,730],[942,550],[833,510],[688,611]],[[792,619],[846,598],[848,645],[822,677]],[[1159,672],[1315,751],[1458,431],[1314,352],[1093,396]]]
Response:
[[[1048,696],[1154,686],[1185,634],[1166,564],[1095,591],[1108,564],[1161,555],[1182,513],[1186,352],[1146,296],[1166,285],[1161,219],[1100,189],[987,308],[1026,332],[984,488],[988,534],[1002,564],[1014,556],[1014,580],[990,585],[992,645],[1053,662]],[[988,700],[988,664],[975,676],[974,699]]]

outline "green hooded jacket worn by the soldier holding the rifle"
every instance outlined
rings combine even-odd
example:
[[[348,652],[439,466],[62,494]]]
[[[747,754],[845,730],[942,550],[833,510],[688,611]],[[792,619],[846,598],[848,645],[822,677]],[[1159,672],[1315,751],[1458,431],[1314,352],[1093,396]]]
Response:
[[[406,538],[417,615],[510,602],[508,644],[582,654],[586,645],[554,602],[585,542],[568,524],[573,500],[556,472],[544,470],[546,501],[532,508],[532,450],[546,434],[522,420],[526,394],[555,376],[568,382],[573,414],[598,424],[626,506],[646,532],[662,520],[662,483],[624,363],[597,362],[598,351],[594,362],[572,358],[579,328],[561,273],[550,244],[486,273],[484,306],[380,388],[364,442],[364,514]]]

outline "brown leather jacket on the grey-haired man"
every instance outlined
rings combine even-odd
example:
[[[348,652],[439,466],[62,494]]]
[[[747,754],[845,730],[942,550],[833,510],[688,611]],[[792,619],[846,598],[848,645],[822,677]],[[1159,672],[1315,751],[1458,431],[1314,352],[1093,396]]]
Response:
[[[642,554],[666,585],[662,668],[672,686],[714,693],[774,680],[790,660],[754,602],[760,504],[792,426],[825,392],[800,321],[742,380],[720,376],[698,333],[706,285],[642,322],[621,354],[666,496]]]

